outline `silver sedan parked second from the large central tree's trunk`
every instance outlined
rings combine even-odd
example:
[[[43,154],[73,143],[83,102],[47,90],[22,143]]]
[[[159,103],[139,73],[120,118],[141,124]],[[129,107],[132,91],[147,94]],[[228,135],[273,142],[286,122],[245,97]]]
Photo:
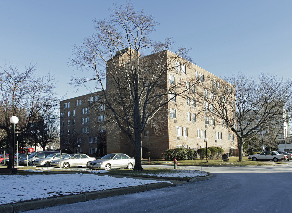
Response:
[[[89,157],[86,154],[68,154],[62,158],[61,167],[68,169],[69,167],[83,167],[87,166],[91,161],[94,161],[94,157]],[[51,162],[52,167],[60,167],[60,159],[53,160]]]

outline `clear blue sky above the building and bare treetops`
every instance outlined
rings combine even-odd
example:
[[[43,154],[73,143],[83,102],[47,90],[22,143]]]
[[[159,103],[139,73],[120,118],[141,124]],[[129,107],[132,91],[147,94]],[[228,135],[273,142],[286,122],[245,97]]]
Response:
[[[58,93],[66,98],[89,91],[69,85],[79,73],[68,67],[72,45],[94,31],[94,18],[110,14],[112,3],[125,1],[4,1],[0,0],[0,66],[5,62],[37,63],[37,74],[50,72]],[[153,14],[160,26],[154,40],[172,36],[192,48],[190,57],[217,75],[261,72],[292,78],[292,1],[133,0],[136,10]]]

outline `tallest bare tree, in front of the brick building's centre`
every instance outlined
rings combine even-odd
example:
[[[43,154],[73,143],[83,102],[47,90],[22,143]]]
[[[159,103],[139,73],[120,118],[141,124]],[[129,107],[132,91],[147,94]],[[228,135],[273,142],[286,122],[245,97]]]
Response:
[[[171,38],[154,42],[149,35],[158,25],[152,15],[135,12],[127,1],[114,4],[109,19],[94,20],[97,33],[74,45],[69,65],[92,73],[92,77],[72,77],[71,85],[86,85],[95,81],[94,91],[101,91],[102,104],[107,109],[107,123],[112,130],[125,134],[135,148],[134,170],[141,166],[141,135],[146,126],[158,133],[167,121],[167,104],[172,97],[185,96],[186,82],[197,83],[192,76],[168,83],[169,72],[190,66],[189,49],[168,51]],[[146,56],[146,54],[151,55]],[[180,63],[176,62],[178,60]],[[106,81],[106,84],[105,84]],[[190,86],[191,86],[190,85]],[[157,122],[160,120],[160,122]],[[160,126],[159,126],[160,125]],[[110,129],[107,128],[107,134]]]

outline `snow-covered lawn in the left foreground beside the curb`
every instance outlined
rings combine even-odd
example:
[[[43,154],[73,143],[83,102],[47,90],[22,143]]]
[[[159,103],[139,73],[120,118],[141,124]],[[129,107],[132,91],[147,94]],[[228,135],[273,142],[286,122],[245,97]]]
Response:
[[[46,168],[47,169],[47,168]],[[43,172],[26,170],[27,172]],[[105,170],[89,171],[104,173]],[[159,183],[157,180],[134,178],[113,178],[94,174],[38,174],[38,175],[0,175],[0,204],[45,199],[49,197],[102,191],[112,188]],[[168,182],[169,181],[162,181]]]

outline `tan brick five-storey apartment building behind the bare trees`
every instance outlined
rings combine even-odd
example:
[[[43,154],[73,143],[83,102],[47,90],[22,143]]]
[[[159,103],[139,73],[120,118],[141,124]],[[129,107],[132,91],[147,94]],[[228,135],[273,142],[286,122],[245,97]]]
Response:
[[[167,50],[166,54],[173,53]],[[179,58],[173,63],[175,68],[164,76],[168,88],[190,76],[200,81],[202,85],[205,85],[204,79],[213,79],[213,82],[219,79],[190,62],[185,66],[185,63],[181,63]],[[204,93],[204,98],[212,99],[211,92],[199,88],[198,85],[190,86],[189,82],[186,82],[186,86],[189,87],[187,96],[169,95],[171,101],[167,105],[167,112],[162,110],[159,115],[160,122],[163,124],[160,134],[157,134],[150,126],[146,127],[142,135],[143,150],[150,152],[151,158],[160,158],[161,153],[166,149],[205,148],[205,138],[208,138],[207,147],[221,147],[226,152],[229,152],[230,149],[237,149],[237,139],[234,133],[226,128],[224,122],[216,119],[216,115],[207,113],[212,110],[212,106],[206,104],[204,106],[203,98],[196,95]],[[213,83],[210,86],[213,86]],[[110,89],[111,83],[107,79],[107,90]],[[103,113],[106,111],[105,106],[95,104],[99,99],[99,93],[90,93],[60,102],[61,149],[66,149],[66,144],[75,142],[74,152],[79,151],[77,145],[80,144],[80,151],[87,154],[94,154],[102,147],[103,154],[121,152],[134,156],[133,144],[117,126],[112,124],[105,128],[106,113]],[[100,132],[106,133],[106,143],[102,143],[103,146],[99,145],[102,141],[97,137]]]

